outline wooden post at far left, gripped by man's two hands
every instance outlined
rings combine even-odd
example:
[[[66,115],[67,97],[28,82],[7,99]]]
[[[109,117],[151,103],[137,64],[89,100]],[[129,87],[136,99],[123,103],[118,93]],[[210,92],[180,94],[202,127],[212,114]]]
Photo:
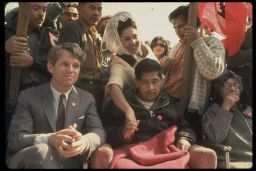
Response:
[[[29,24],[29,2],[19,2],[19,15],[17,21],[16,36],[26,37],[28,32]],[[9,101],[8,105],[14,108],[19,94],[20,88],[20,67],[11,67],[11,78],[10,78],[10,88],[9,88]]]

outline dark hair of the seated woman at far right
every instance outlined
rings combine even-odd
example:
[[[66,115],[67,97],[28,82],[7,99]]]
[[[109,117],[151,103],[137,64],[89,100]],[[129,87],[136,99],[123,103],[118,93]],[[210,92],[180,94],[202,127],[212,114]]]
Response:
[[[212,90],[211,90],[211,100],[212,103],[218,103],[219,105],[222,104],[223,97],[222,97],[222,87],[224,86],[225,82],[228,79],[234,79],[237,81],[238,84],[240,84],[240,92],[243,90],[243,84],[242,84],[242,78],[235,74],[233,71],[226,70],[220,75],[218,78],[216,78],[212,82]]]

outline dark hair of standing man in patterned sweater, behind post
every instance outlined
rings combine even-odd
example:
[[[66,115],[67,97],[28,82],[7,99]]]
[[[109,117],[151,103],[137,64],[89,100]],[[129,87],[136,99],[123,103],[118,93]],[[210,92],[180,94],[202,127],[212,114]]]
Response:
[[[179,6],[178,8],[176,8],[174,11],[172,11],[169,16],[168,19],[170,22],[172,22],[173,19],[177,19],[179,17],[182,17],[183,20],[185,21],[185,23],[188,22],[188,7],[189,5],[186,6]],[[200,26],[200,20],[197,17],[197,27]]]

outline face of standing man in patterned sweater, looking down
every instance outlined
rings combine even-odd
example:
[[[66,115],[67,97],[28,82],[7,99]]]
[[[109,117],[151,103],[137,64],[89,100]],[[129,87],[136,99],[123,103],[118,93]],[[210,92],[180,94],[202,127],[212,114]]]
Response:
[[[173,24],[173,28],[175,30],[175,33],[177,34],[177,36],[183,40],[184,39],[184,33],[185,33],[185,26],[186,26],[186,22],[184,21],[183,17],[180,16],[176,19],[173,19],[172,21]]]

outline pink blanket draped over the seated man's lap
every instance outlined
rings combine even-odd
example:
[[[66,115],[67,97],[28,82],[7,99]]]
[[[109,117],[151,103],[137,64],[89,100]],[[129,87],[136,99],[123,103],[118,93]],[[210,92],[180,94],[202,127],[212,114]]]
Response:
[[[176,130],[172,126],[148,141],[115,149],[110,168],[187,168],[189,153],[173,144]]]

